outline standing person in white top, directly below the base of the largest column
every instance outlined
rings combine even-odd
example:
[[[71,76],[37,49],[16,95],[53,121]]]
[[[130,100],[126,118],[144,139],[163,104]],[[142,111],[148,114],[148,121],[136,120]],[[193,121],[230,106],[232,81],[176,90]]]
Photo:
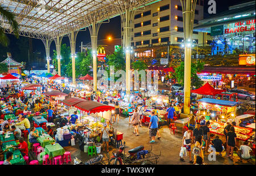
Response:
[[[192,137],[193,137],[192,134],[193,134],[193,128],[189,127],[188,131],[184,132],[183,139],[182,139],[182,144],[181,144],[181,146],[185,147],[187,152],[188,152],[189,163],[193,163],[193,161],[191,159],[191,140],[192,140]],[[180,157],[180,161],[185,161],[185,160],[183,159],[183,157]]]

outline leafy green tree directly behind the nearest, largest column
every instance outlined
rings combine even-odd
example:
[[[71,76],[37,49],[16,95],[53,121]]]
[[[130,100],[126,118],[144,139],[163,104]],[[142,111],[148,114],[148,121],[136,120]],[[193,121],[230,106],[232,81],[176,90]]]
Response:
[[[203,85],[203,81],[196,75],[197,72],[200,72],[203,69],[204,62],[191,63],[191,87],[199,88]],[[181,62],[180,66],[176,68],[175,78],[181,85],[184,85],[184,62]]]

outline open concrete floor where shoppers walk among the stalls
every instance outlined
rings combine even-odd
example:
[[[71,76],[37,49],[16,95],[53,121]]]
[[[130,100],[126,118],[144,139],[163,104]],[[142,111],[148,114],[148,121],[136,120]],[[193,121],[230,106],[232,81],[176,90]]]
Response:
[[[152,152],[155,154],[160,154],[159,157],[159,163],[162,165],[191,165],[189,164],[189,158],[185,157],[185,162],[179,161],[179,153],[180,153],[180,147],[181,147],[181,141],[182,141],[182,128],[177,127],[178,133],[173,135],[170,134],[170,130],[167,126],[164,126],[160,128],[160,140],[155,139],[154,144],[150,144],[149,141],[151,140],[148,135],[148,127],[142,126],[139,127],[139,136],[135,136],[133,134],[133,127],[128,124],[129,118],[121,117],[119,120],[119,123],[115,122],[114,127],[117,128],[118,131],[123,132],[123,140],[126,143],[126,154],[129,149],[138,147],[139,145],[144,145],[144,149],[150,150],[152,147]],[[85,162],[89,160],[90,156],[88,156],[87,153],[84,153],[80,151],[78,145],[75,146],[68,146],[64,147],[65,151],[71,152],[72,159],[77,157],[82,162]],[[110,157],[113,155],[112,152],[116,151],[117,148],[110,147]],[[107,152],[101,152],[101,154],[104,155],[104,160],[108,159],[108,153]],[[29,154],[30,160],[35,159],[35,154],[30,152]],[[192,156],[193,159],[193,156]],[[209,161],[208,160],[208,154],[204,154],[204,162],[207,165],[240,165],[240,164],[254,164],[255,160],[251,162],[243,163],[241,161],[238,161],[238,157],[236,154],[234,154],[234,160],[230,160],[230,158],[225,156],[225,152],[222,153],[222,156],[217,156],[216,161]],[[73,161],[69,164],[73,164]]]

